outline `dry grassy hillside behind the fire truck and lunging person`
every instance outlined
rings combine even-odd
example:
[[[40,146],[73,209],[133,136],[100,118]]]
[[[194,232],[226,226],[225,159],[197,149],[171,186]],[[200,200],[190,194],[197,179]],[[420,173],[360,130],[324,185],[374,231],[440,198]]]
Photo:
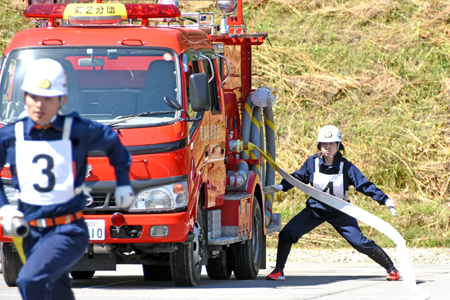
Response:
[[[3,50],[32,25],[9,0],[0,3]],[[316,151],[319,128],[336,125],[347,158],[394,198],[399,217],[354,191],[352,202],[391,223],[408,246],[450,246],[450,3],[249,0],[244,11],[249,31],[269,34],[270,43],[253,52],[254,86],[282,94],[274,107],[281,168],[298,169]],[[278,193],[275,210],[285,223],[305,200],[295,190]],[[361,227],[381,246],[394,246]],[[329,225],[298,245],[348,246]]]

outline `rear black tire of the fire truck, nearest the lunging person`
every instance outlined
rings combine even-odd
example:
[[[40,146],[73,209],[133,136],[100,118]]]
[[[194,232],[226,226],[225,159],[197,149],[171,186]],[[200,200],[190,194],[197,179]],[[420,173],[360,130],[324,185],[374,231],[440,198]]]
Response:
[[[262,257],[262,217],[259,203],[253,199],[252,238],[231,245],[231,263],[237,279],[255,279]]]

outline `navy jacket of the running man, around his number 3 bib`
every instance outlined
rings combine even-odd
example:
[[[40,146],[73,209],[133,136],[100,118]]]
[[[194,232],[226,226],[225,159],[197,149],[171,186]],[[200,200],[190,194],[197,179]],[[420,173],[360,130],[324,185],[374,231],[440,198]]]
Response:
[[[103,151],[114,167],[117,186],[129,185],[129,170],[131,156],[122,145],[117,133],[111,127],[87,119],[82,119],[76,112],[69,114],[73,117],[70,140],[72,141],[72,159],[74,162],[75,183],[78,187],[83,184],[86,175],[87,154],[89,151]],[[60,140],[64,127],[65,116],[58,115],[56,119],[42,129],[29,117],[24,120],[25,140]],[[16,137],[14,124],[0,129],[0,166],[10,164],[12,185],[19,190],[16,173]],[[3,182],[0,180],[0,207],[8,204]],[[76,195],[63,204],[36,206],[19,201],[19,210],[24,213],[27,221],[50,218],[75,213],[86,207],[86,196]]]

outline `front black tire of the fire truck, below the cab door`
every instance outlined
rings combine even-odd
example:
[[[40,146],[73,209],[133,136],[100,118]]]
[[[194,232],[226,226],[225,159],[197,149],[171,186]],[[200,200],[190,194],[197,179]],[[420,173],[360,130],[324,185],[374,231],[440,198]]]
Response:
[[[177,286],[196,286],[200,281],[203,259],[207,248],[207,215],[200,202],[197,220],[194,225],[194,240],[179,244],[178,249],[170,253],[170,270]]]

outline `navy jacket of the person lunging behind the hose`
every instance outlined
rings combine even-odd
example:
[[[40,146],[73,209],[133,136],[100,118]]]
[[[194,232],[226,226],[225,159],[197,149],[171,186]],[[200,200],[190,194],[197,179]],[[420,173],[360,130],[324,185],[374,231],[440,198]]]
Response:
[[[353,185],[355,187],[355,190],[371,197],[380,205],[385,204],[386,200],[389,198],[382,190],[377,188],[374,183],[368,181],[367,178],[358,170],[358,168],[356,168],[351,162],[344,158],[340,152],[335,155],[335,159],[331,166],[327,165],[325,161],[319,156],[319,154],[316,153],[313,156],[308,157],[302,167],[291,175],[305,184],[312,185],[314,182],[314,160],[317,157],[319,157],[319,172],[329,175],[338,174],[339,165],[341,161],[344,162],[344,167],[342,170],[342,174],[344,175],[344,193],[346,193],[348,191],[348,188]],[[281,181],[281,184],[283,185],[284,192],[293,188],[293,186],[289,182],[287,182],[286,179],[283,179]],[[311,197],[307,200],[306,204],[311,208],[322,210],[327,214],[339,212],[333,207],[321,203]]]

